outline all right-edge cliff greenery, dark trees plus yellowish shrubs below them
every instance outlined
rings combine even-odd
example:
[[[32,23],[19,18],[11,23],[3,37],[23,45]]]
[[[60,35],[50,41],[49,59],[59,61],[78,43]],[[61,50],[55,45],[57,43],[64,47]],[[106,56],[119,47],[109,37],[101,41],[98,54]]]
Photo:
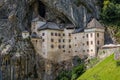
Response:
[[[113,37],[120,43],[120,1],[104,0],[101,11],[101,20],[108,27],[113,29]]]

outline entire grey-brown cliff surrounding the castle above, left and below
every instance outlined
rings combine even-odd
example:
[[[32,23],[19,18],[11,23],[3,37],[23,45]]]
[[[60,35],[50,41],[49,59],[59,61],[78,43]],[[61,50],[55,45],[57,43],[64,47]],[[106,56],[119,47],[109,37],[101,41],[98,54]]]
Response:
[[[41,58],[30,40],[22,39],[21,32],[31,32],[31,20],[37,16],[84,28],[92,17],[99,18],[99,3],[100,0],[0,0],[0,80],[54,80],[59,70],[70,69],[72,60],[54,63]]]

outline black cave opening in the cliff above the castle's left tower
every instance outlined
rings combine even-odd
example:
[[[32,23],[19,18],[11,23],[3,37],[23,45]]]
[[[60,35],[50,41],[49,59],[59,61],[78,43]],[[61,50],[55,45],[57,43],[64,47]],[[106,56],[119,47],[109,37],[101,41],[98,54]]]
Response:
[[[41,2],[41,1],[38,1],[38,14],[39,16],[45,18],[45,12],[46,12],[46,9],[45,9],[45,5]]]

